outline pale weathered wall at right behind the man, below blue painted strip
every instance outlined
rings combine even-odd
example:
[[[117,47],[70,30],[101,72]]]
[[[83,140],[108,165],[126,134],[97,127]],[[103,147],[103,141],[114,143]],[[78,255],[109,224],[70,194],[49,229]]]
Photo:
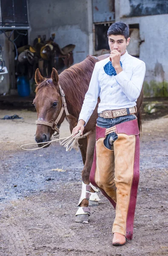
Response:
[[[146,64],[145,95],[168,96],[168,14],[126,17],[130,13],[129,0],[116,1],[115,11],[116,21],[139,23],[139,58]]]

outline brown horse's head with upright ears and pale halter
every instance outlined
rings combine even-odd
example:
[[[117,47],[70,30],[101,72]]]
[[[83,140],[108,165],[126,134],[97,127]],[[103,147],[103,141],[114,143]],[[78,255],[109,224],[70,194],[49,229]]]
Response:
[[[51,79],[44,79],[39,69],[35,72],[36,96],[33,101],[38,113],[37,130],[35,140],[42,143],[51,140],[52,134],[55,132],[55,120],[59,119],[59,113],[62,109],[62,99],[58,83],[58,73],[52,68]],[[62,113],[62,112],[61,112]],[[58,126],[64,121],[65,113],[61,114]],[[49,126],[51,125],[51,126]],[[43,144],[38,145],[39,147]],[[49,146],[49,145],[48,145]]]

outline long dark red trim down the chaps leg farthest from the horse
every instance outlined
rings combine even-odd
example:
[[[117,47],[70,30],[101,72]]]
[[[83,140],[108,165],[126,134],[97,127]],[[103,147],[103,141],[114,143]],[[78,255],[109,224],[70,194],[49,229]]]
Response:
[[[136,208],[136,198],[139,184],[139,135],[136,136],[135,144],[135,157],[133,166],[133,181],[130,192],[130,204],[127,213],[127,224],[126,224],[126,238],[131,240],[133,238],[133,221]]]

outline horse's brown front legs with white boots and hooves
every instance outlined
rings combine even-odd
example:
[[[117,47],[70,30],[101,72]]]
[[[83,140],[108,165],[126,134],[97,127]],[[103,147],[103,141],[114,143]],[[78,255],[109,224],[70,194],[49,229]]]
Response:
[[[82,192],[78,202],[78,211],[76,212],[76,222],[88,221],[90,215],[90,206],[98,205],[98,189],[90,183],[90,170],[93,163],[93,154],[96,141],[95,132],[87,135],[86,139],[80,140],[79,148],[81,150],[84,168],[82,170]]]

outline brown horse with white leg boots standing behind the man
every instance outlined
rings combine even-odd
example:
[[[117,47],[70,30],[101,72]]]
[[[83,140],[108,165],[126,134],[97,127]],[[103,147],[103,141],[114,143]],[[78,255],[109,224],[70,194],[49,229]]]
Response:
[[[61,88],[64,90],[69,114],[66,116],[65,111],[63,111],[57,126],[59,127],[66,118],[70,124],[70,131],[72,133],[72,129],[77,125],[78,122],[78,116],[81,111],[84,96],[89,87],[95,63],[99,60],[107,58],[108,56],[109,55],[101,55],[98,58],[88,56],[81,63],[75,64],[67,70],[64,70],[59,76],[57,71],[53,68],[51,79],[44,79],[41,76],[40,71],[37,69],[35,72],[35,81],[37,83],[37,87],[35,90],[36,96],[34,99],[34,105],[38,113],[38,120],[42,121],[42,123],[47,122],[53,124],[53,122],[55,122],[55,120],[58,118],[63,105],[59,87],[59,85],[61,85]],[[142,100],[143,90],[141,91],[141,94],[136,102],[139,128],[141,128],[140,106],[142,104]],[[81,176],[82,181],[85,184],[90,183],[89,176],[96,143],[96,119],[98,117],[97,108],[98,104],[87,125],[85,126],[84,134],[86,134],[86,137],[82,136],[82,138],[79,140],[79,148],[84,163]],[[50,141],[51,136],[54,133],[52,128],[53,127],[44,124],[38,124],[35,140],[38,143]],[[95,190],[91,188],[91,192],[95,192]],[[89,201],[87,198],[84,198],[79,206],[88,207],[88,205]],[[82,214],[78,215],[78,222],[80,221],[80,218],[81,222],[83,222]]]

